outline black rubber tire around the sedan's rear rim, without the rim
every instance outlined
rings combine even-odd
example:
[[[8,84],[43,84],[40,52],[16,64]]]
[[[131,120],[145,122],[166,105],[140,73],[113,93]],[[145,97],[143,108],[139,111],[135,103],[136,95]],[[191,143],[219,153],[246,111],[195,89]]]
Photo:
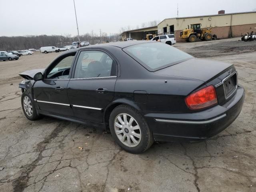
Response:
[[[114,128],[114,121],[116,117],[119,114],[128,114],[132,116],[138,125],[140,126],[140,132],[141,132],[141,139],[140,143],[135,146],[135,147],[129,147],[123,144],[119,138],[116,135],[115,128]],[[110,132],[112,134],[112,137],[114,138],[115,142],[124,150],[133,153],[133,154],[138,154],[146,151],[154,142],[153,134],[150,131],[148,124],[146,120],[136,111],[134,108],[126,105],[119,105],[110,114],[109,118],[109,125],[110,125]]]

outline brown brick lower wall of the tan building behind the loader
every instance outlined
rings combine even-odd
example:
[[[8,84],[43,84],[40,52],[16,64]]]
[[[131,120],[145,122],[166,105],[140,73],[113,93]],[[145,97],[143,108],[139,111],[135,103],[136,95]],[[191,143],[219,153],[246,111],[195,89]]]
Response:
[[[256,27],[256,24],[232,26],[233,37],[240,37],[241,33],[246,34],[247,32],[251,32],[251,31],[256,32],[256,29],[250,29],[250,27],[254,28],[254,27]],[[178,30],[178,31],[174,32],[176,42],[186,42],[184,39],[179,38],[181,31],[182,30]],[[230,26],[214,27],[214,28],[212,28],[212,35],[213,34],[216,34],[217,38],[220,38],[220,39],[225,39],[225,38],[231,38],[232,37]]]

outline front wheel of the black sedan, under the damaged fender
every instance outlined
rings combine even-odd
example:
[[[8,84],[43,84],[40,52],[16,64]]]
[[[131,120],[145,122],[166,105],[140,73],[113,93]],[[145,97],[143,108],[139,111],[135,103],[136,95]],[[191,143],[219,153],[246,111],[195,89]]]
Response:
[[[22,93],[21,106],[26,118],[28,118],[29,120],[36,120],[39,118],[36,112],[36,106],[32,98],[26,91]]]

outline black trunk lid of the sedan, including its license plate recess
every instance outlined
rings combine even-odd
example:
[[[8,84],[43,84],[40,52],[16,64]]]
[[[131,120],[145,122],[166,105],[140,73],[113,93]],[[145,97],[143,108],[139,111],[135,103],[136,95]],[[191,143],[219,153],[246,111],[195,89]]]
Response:
[[[218,103],[220,105],[232,98],[238,85],[234,65],[218,61],[194,58],[155,71],[155,73],[197,79],[204,81],[205,86],[213,85],[216,89]],[[197,88],[193,92],[201,88]]]

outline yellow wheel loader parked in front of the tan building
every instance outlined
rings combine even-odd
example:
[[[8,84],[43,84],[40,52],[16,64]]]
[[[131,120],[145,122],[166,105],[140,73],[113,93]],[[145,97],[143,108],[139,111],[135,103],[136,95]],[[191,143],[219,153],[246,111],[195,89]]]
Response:
[[[196,40],[210,41],[216,40],[217,36],[212,35],[212,27],[201,28],[202,24],[191,24],[191,28],[185,29],[180,32],[180,38],[185,39],[187,42],[195,42]]]

